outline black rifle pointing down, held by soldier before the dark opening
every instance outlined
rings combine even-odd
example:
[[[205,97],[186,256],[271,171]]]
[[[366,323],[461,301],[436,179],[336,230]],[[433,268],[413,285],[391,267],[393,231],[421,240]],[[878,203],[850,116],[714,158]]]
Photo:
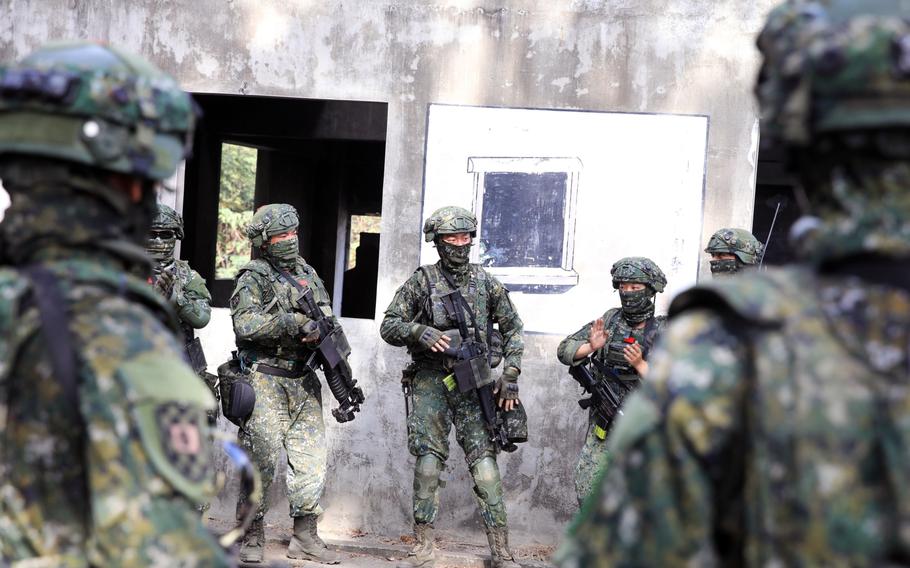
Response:
[[[293,278],[288,279],[297,283]],[[360,405],[364,400],[363,391],[357,386],[357,381],[354,380],[351,366],[347,361],[347,356],[351,353],[351,346],[341,327],[332,323],[332,320],[319,309],[313,298],[313,291],[308,287],[300,286],[299,283],[297,286],[300,292],[297,307],[301,313],[313,320],[319,329],[319,344],[307,359],[306,366],[314,371],[317,368],[322,369],[325,382],[329,385],[329,390],[332,391],[335,400],[338,401],[338,408],[332,409],[332,416],[338,422],[348,422],[354,419],[355,412],[360,411]]]

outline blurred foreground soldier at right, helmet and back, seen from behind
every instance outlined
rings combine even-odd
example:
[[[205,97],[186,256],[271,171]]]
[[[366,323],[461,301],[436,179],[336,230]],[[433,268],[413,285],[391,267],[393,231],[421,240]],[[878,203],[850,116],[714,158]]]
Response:
[[[910,7],[792,2],[763,139],[819,216],[805,264],[681,295],[561,566],[910,565]]]

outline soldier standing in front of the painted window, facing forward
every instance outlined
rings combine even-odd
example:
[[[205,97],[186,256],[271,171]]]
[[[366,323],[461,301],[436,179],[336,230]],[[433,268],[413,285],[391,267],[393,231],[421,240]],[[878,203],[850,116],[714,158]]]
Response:
[[[424,223],[424,237],[439,252],[439,262],[421,266],[398,288],[386,309],[380,333],[396,346],[406,346],[413,363],[409,368],[411,413],[408,416],[408,450],[417,457],[414,466],[414,534],[416,544],[403,566],[433,566],[433,522],[439,509],[439,475],[449,457],[449,431],[464,450],[474,494],[487,531],[493,566],[517,566],[509,551],[506,508],[496,463],[497,447],[484,424],[478,396],[461,393],[452,379],[454,359],[443,351],[461,339],[456,321],[442,298],[451,292],[446,274],[473,310],[481,341],[487,341],[492,324],[502,333],[505,367],[495,392],[499,405],[520,404],[523,324],[509,299],[508,290],[477,264],[468,262],[477,219],[461,207],[443,207]],[[473,332],[473,330],[472,330]]]

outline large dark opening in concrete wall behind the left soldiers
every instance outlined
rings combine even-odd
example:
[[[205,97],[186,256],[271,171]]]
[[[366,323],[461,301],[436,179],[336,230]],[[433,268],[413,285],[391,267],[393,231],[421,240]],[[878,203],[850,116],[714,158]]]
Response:
[[[219,219],[222,153],[226,144],[254,149],[249,214],[267,203],[290,203],[297,208],[301,254],[319,273],[340,315],[351,217],[378,217],[382,208],[387,105],[242,95],[194,97],[203,119],[194,156],[186,166],[186,237],[181,256],[206,279],[214,305],[227,306],[234,281],[225,266],[235,267],[237,262],[226,264],[219,259],[220,270],[216,270],[216,249],[222,254],[223,248],[218,242],[219,222],[224,222]],[[236,216],[233,220],[230,238],[242,238],[237,230],[241,224]],[[224,226],[221,229],[224,233]],[[378,251],[378,235],[375,240]],[[238,244],[233,250],[241,248]],[[364,269],[368,265],[364,263]],[[368,312],[370,318],[375,311],[376,278],[375,269],[360,276],[360,286],[370,289],[374,300],[372,307],[358,313]]]

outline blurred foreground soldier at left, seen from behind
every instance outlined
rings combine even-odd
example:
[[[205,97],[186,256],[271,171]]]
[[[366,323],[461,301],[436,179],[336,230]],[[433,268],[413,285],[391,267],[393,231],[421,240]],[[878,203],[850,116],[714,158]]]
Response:
[[[142,278],[194,105],[148,62],[52,44],[0,67],[0,565],[227,566],[173,312]]]

